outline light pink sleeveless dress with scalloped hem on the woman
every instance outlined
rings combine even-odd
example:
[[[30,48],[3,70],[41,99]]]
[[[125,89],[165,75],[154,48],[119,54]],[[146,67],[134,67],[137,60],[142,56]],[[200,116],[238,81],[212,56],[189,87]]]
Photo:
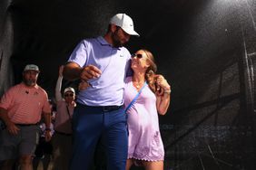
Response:
[[[124,105],[127,107],[138,91],[133,86],[132,77],[125,80]],[[127,110],[128,115],[128,158],[146,161],[164,159],[162,137],[159,130],[156,97],[146,85],[140,96]]]

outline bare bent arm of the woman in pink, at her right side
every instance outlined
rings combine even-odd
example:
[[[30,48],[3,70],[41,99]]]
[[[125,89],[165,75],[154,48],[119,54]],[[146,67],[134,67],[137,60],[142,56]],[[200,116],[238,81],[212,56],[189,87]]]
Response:
[[[170,105],[171,86],[162,75],[157,75],[156,83],[160,87],[160,91],[156,93],[156,108],[160,115],[165,115]]]

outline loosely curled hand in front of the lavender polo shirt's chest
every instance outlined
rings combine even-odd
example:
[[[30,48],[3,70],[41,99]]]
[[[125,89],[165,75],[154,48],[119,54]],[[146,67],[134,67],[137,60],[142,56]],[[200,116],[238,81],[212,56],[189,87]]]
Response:
[[[96,79],[100,77],[102,74],[102,71],[99,70],[94,65],[87,65],[84,67],[83,71],[81,71],[80,79],[81,80],[90,80],[90,79]]]

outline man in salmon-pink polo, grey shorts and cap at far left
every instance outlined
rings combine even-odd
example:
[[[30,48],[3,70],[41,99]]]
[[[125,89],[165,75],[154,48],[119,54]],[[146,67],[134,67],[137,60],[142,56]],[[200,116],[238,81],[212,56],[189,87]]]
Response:
[[[38,144],[38,122],[44,116],[45,140],[51,139],[51,108],[45,90],[36,84],[39,69],[25,66],[23,82],[7,90],[0,100],[0,118],[5,129],[0,132],[0,169],[12,169],[19,160],[21,170],[32,170],[32,156]]]

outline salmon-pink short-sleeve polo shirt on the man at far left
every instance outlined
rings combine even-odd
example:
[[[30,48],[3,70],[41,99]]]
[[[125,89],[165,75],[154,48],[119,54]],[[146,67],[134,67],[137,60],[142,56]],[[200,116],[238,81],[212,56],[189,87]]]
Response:
[[[48,95],[40,86],[27,87],[22,82],[7,90],[0,100],[0,108],[16,124],[35,124],[41,114],[51,113]]]

